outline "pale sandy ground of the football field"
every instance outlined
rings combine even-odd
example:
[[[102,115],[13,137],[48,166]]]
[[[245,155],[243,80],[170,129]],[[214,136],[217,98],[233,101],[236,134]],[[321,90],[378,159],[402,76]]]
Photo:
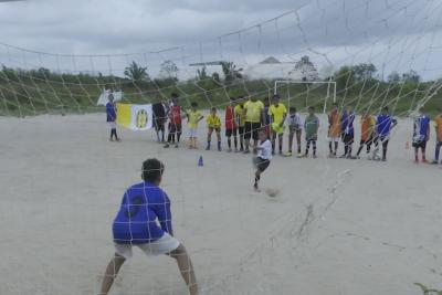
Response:
[[[103,114],[0,118],[0,294],[97,294],[113,218],[150,157],[166,165],[175,234],[202,294],[442,288],[442,170],[412,161],[411,122],[377,162],[327,159],[320,119],[317,159],[275,157],[263,175],[263,188],[281,191],[272,199],[252,190],[251,155],[202,150],[202,126],[200,150],[188,150],[164,149],[154,131],[119,129],[123,143],[109,143]],[[112,294],[187,292],[171,259],[135,251]]]

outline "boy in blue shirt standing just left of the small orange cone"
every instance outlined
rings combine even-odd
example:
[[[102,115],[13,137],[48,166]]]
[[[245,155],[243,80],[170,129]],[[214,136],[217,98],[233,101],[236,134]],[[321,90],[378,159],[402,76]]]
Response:
[[[382,144],[382,161],[387,160],[388,141],[390,140],[391,129],[398,125],[398,122],[388,113],[388,106],[382,107],[381,114],[377,118],[376,129],[377,136],[375,137],[373,160],[380,160],[378,156],[379,141]]]

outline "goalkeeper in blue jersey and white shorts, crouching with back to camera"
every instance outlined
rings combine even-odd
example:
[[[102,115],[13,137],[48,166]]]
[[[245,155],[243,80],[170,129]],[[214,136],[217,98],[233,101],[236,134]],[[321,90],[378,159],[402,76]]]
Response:
[[[157,159],[143,162],[143,182],[123,196],[113,223],[115,255],[107,265],[101,295],[107,295],[123,263],[134,246],[146,255],[166,254],[175,259],[191,295],[198,294],[193,266],[185,246],[173,238],[170,200],[159,185],[164,165]]]

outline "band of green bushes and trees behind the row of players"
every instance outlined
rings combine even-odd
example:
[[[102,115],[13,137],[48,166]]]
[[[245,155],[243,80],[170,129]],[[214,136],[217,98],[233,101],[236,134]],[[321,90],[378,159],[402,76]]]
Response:
[[[229,103],[229,97],[259,95],[260,99],[264,99],[273,94],[272,80],[244,80],[241,69],[236,70],[233,63],[224,64],[223,70],[231,73],[225,81],[218,73],[210,77],[201,70],[197,80],[179,82],[173,76],[150,80],[147,69],[136,63],[126,69],[126,77],[56,73],[44,67],[27,71],[3,65],[0,70],[0,115],[102,110],[103,108],[96,106],[96,101],[104,87],[122,89],[125,101],[130,103],[165,101],[171,93],[178,93],[185,107],[192,101],[198,102],[201,107],[222,107]],[[404,115],[417,106],[435,83],[415,83],[415,72],[408,73],[404,80],[403,75],[398,74],[401,77],[398,83],[382,82],[373,77],[373,70],[369,65],[339,69],[335,73],[338,103],[351,103],[357,107],[356,110],[362,106],[378,109],[389,105],[397,115]],[[370,76],[371,78],[365,78]],[[324,107],[327,86],[287,84],[281,86],[278,92],[286,104],[290,103],[299,110],[314,105],[319,112]],[[423,110],[429,115],[442,112],[442,92],[435,94]]]

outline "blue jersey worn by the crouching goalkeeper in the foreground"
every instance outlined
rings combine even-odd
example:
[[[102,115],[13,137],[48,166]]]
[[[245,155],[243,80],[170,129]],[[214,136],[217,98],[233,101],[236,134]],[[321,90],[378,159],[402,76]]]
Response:
[[[172,235],[170,200],[166,192],[148,181],[128,188],[113,223],[114,242],[150,243],[165,232]]]

